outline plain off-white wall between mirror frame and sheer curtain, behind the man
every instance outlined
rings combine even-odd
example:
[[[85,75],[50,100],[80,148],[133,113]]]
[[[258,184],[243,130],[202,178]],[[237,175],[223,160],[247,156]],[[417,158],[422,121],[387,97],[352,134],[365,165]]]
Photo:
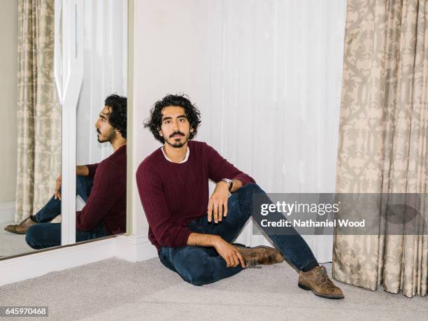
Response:
[[[134,173],[159,146],[143,120],[165,94],[185,92],[199,106],[210,92],[211,1],[135,1],[134,10]],[[135,176],[134,176],[135,177]],[[148,233],[134,181],[134,233]]]

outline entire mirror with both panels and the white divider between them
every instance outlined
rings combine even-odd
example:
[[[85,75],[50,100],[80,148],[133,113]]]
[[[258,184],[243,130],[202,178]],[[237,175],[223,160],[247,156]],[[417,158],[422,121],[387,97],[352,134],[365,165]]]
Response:
[[[126,229],[127,0],[27,2],[1,10],[0,259]]]

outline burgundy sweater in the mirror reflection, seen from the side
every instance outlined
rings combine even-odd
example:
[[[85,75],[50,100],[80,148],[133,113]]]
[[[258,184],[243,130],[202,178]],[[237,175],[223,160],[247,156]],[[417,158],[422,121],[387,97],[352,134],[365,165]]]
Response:
[[[87,165],[94,185],[82,211],[76,213],[76,228],[91,231],[104,220],[108,234],[126,230],[127,221],[127,145],[99,164]]]

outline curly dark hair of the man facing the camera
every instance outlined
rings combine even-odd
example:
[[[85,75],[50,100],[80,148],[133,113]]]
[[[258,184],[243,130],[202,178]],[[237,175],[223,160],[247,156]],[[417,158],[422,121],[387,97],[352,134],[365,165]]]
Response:
[[[193,128],[189,139],[194,138],[198,132],[198,126],[201,124],[201,113],[197,106],[190,102],[186,94],[168,94],[162,100],[157,101],[150,110],[150,118],[144,122],[144,128],[150,129],[157,141],[165,143],[164,138],[159,134],[159,129],[162,125],[162,110],[169,106],[184,108],[187,120],[190,122],[190,128]]]

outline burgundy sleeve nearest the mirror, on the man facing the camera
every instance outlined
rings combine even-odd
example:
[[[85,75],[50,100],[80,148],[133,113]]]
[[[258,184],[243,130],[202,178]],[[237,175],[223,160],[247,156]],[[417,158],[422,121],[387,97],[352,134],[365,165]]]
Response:
[[[187,245],[187,238],[192,231],[187,227],[173,224],[171,213],[166,205],[162,180],[156,171],[147,164],[141,164],[136,172],[136,183],[145,216],[157,243],[169,248]]]

